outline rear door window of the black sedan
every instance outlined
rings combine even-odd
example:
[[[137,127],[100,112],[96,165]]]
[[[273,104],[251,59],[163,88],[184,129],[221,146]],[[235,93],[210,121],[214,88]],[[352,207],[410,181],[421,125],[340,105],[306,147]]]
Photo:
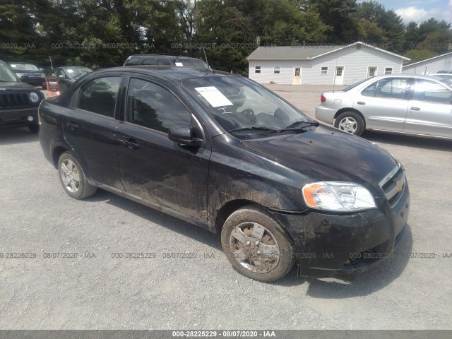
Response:
[[[78,108],[114,117],[120,83],[120,76],[107,76],[88,81],[80,88]]]

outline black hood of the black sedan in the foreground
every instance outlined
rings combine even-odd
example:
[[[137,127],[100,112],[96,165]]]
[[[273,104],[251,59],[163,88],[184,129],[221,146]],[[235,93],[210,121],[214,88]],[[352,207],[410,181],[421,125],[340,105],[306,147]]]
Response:
[[[324,126],[241,143],[301,172],[307,181],[357,182],[377,195],[382,194],[379,182],[397,165],[397,160],[383,148]]]

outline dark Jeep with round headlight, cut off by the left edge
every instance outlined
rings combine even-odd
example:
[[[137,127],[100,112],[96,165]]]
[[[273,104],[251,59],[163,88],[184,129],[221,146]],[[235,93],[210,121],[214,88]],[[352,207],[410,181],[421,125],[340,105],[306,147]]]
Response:
[[[37,133],[37,107],[44,99],[40,90],[20,82],[8,65],[0,60],[0,128],[28,126]]]

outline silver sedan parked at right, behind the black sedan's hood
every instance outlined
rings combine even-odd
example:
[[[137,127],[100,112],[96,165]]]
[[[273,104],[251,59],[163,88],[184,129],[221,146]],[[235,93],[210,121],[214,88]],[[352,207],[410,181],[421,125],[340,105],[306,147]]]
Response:
[[[452,83],[436,76],[375,76],[321,95],[316,119],[348,133],[452,138]]]

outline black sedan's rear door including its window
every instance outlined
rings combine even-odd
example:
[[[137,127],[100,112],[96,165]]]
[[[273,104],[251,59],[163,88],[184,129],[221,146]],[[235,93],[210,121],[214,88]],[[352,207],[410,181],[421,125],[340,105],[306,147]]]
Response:
[[[64,138],[76,153],[88,178],[122,189],[117,160],[121,75],[86,81],[71,97],[62,119]]]

